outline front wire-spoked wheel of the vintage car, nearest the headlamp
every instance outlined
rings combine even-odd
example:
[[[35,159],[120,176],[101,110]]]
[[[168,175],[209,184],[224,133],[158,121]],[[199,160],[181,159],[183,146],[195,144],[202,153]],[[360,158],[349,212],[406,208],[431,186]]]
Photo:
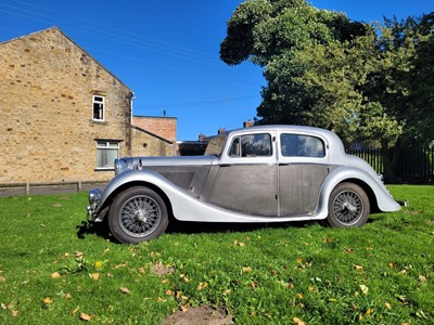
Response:
[[[108,227],[113,236],[125,244],[156,238],[167,225],[166,204],[148,187],[135,186],[122,192],[108,212]]]

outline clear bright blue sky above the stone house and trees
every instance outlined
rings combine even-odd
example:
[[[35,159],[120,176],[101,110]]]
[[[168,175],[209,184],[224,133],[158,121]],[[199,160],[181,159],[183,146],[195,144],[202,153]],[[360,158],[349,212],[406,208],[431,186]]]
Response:
[[[60,27],[136,94],[133,114],[178,118],[178,140],[234,129],[256,115],[261,69],[218,56],[241,0],[0,0],[0,42]],[[314,0],[356,21],[434,11],[434,0]]]

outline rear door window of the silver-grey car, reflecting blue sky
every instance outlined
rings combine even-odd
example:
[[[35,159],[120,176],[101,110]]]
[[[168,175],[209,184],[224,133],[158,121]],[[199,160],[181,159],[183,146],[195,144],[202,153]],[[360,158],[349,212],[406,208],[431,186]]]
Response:
[[[281,134],[281,154],[283,157],[324,157],[324,143],[310,135]]]

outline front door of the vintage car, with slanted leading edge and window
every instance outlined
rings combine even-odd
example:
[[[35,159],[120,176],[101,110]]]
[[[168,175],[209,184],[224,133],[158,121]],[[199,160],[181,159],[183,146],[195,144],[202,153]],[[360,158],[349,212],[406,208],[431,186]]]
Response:
[[[253,132],[228,139],[208,202],[254,216],[278,216],[276,136]]]

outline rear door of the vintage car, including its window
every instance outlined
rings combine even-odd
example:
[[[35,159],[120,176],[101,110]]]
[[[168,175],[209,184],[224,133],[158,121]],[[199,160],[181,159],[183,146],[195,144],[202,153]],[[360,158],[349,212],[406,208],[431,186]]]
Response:
[[[315,134],[282,132],[278,159],[279,216],[314,213],[329,174],[326,140]]]

